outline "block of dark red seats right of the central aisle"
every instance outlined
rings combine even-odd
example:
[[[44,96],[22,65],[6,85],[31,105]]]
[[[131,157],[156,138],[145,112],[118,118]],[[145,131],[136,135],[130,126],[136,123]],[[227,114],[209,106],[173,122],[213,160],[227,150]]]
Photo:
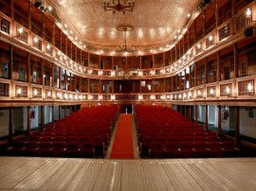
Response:
[[[170,108],[136,105],[141,158],[234,157],[239,149]]]

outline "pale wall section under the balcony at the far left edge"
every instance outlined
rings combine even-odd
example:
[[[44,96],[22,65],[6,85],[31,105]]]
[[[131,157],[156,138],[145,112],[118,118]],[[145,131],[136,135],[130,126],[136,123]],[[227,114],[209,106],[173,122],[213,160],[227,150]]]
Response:
[[[9,108],[0,108],[0,137],[9,135]]]

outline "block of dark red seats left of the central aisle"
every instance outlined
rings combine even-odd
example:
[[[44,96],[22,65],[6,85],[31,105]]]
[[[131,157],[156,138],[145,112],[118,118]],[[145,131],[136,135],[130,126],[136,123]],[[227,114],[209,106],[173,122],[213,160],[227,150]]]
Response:
[[[14,142],[9,155],[39,157],[104,157],[118,118],[118,106],[97,106],[71,113],[26,141]]]

